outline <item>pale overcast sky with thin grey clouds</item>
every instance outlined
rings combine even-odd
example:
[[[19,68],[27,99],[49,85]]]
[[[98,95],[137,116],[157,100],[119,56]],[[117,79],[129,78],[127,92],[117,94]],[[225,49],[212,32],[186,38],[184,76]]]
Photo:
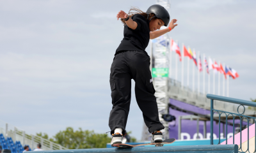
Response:
[[[29,134],[52,136],[68,126],[109,131],[110,66],[124,28],[116,13],[155,3],[0,1],[0,119]],[[236,69],[230,97],[256,98],[256,1],[170,3],[179,24],[173,40]],[[140,140],[142,125],[132,83],[127,131]]]

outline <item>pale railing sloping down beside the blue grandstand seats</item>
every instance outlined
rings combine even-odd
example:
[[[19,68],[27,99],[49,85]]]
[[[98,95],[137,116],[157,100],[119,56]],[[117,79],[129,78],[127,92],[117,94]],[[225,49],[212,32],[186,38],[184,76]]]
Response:
[[[13,142],[19,141],[22,145],[29,145],[31,150],[36,149],[36,145],[41,143],[43,150],[66,150],[67,148],[51,142],[41,136],[28,135],[24,130],[19,129],[12,124],[0,120],[0,133],[4,137],[11,137]]]

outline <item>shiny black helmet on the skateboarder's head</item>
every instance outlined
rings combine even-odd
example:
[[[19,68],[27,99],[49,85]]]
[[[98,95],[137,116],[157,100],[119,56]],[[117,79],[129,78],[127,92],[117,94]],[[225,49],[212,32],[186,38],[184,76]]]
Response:
[[[159,4],[154,4],[152,6],[150,6],[146,12],[148,15],[150,13],[154,13],[156,15],[157,18],[160,18],[163,20],[164,22],[164,26],[167,26],[169,24],[170,21],[170,15],[168,13],[168,11],[161,5]],[[152,17],[153,18],[153,17]],[[150,18],[150,20],[152,19]]]

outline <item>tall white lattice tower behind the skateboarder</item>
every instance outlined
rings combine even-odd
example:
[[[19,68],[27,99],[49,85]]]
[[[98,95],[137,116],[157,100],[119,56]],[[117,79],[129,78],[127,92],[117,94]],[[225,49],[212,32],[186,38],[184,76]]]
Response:
[[[170,8],[170,3],[168,0],[157,0],[156,4],[161,4],[166,10]],[[168,127],[168,122],[164,121],[162,118],[162,114],[168,113],[168,69],[169,69],[169,53],[170,53],[170,38],[168,34],[164,34],[163,36],[156,38],[154,41],[155,43],[152,43],[152,40],[150,40],[150,63],[154,63],[154,66],[152,64],[150,65],[150,70],[163,68],[166,75],[165,77],[153,77],[153,84],[154,88],[156,90],[155,96],[158,106],[158,112],[159,112],[159,119],[164,127]],[[154,52],[153,52],[154,50]],[[154,54],[154,55],[153,55]],[[168,128],[164,128],[162,130],[164,139],[169,138]],[[147,126],[144,125],[143,127],[143,138],[142,140],[150,140],[151,134],[148,133]]]

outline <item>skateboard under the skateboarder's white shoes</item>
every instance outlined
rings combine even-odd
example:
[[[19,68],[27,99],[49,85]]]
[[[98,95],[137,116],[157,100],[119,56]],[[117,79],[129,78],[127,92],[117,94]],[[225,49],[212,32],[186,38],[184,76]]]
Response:
[[[144,145],[155,145],[156,147],[163,147],[164,144],[170,144],[175,142],[175,138],[171,138],[171,139],[166,139],[163,140],[163,142],[158,142],[158,143],[144,143],[144,144],[140,144],[140,145],[128,145],[128,144],[123,144],[123,143],[119,143],[119,144],[115,144],[114,147],[118,147],[118,148],[132,148],[132,147],[139,147],[139,146],[144,146]]]

